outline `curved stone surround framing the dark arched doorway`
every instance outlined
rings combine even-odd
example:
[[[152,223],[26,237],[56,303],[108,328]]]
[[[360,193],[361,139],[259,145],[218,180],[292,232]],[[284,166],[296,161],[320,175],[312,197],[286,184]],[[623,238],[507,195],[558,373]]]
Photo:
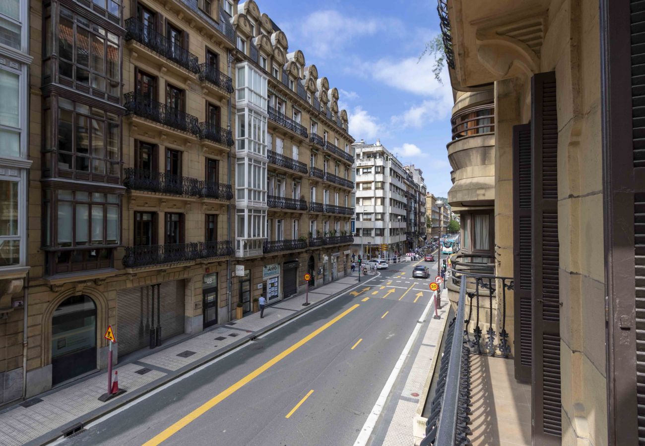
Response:
[[[53,300],[49,302],[45,311],[43,312],[43,329],[41,331],[41,365],[52,364],[52,318],[54,311],[61,305],[67,298],[77,295],[86,295],[92,299],[96,305],[96,348],[97,351],[104,347],[107,342],[103,339],[103,333],[108,328],[109,315],[108,315],[108,299],[101,293],[101,291],[94,288],[74,287],[62,291]],[[98,361],[98,356],[97,356]]]

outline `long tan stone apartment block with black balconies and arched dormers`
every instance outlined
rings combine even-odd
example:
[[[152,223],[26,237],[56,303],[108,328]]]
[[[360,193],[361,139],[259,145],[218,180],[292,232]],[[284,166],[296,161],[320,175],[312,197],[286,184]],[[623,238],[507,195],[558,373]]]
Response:
[[[25,396],[344,275],[347,115],[254,1],[30,14]]]

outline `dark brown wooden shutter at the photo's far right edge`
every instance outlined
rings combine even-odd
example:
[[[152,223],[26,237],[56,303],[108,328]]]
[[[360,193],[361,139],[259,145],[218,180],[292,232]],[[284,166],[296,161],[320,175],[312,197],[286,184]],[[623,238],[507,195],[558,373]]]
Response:
[[[645,444],[645,3],[601,0],[599,29],[608,443],[635,445]]]

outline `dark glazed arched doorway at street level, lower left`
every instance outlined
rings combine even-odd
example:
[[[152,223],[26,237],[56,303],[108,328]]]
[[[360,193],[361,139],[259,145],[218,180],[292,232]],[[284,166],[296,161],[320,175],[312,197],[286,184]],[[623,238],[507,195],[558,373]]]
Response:
[[[52,316],[52,385],[96,369],[96,305],[72,296]]]

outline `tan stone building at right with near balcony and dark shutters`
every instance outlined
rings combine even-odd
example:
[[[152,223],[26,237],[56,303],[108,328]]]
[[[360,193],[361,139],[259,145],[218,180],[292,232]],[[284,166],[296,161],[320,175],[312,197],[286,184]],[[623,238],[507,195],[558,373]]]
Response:
[[[469,254],[453,262],[450,345],[461,351],[464,328],[470,341],[442,369],[461,365],[451,379],[470,381],[470,408],[458,410],[473,422],[466,432],[439,402],[424,434],[644,443],[645,5],[470,6],[438,10],[459,92],[448,198]]]

